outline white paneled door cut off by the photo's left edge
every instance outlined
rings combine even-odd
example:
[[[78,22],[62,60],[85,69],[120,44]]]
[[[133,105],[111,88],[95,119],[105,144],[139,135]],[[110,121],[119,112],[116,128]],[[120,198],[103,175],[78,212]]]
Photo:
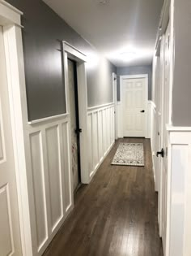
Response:
[[[0,26],[0,256],[22,255],[6,59]]]

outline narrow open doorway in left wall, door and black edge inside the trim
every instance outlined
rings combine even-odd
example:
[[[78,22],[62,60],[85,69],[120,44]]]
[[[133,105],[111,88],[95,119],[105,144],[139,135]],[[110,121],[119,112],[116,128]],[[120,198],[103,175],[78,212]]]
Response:
[[[78,190],[81,184],[81,165],[80,165],[80,132],[79,127],[79,95],[77,79],[77,63],[68,59],[68,85],[70,102],[70,128],[71,128],[71,155],[72,155],[72,174],[73,190]]]

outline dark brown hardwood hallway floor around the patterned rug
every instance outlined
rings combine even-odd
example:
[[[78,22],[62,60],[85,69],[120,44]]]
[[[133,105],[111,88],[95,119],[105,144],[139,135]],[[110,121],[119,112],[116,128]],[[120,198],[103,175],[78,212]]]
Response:
[[[112,166],[121,141],[143,142],[145,167]],[[44,256],[162,256],[150,140],[121,139],[89,185]]]

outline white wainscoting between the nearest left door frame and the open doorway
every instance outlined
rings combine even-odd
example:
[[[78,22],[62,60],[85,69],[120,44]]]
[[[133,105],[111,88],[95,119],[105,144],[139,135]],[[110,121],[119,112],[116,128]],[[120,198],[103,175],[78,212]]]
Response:
[[[70,119],[28,125],[33,255],[41,255],[73,208]]]

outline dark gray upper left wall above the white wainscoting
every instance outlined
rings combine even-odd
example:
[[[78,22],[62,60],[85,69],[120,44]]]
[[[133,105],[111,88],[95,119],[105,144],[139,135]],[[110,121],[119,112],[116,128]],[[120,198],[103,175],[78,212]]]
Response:
[[[65,113],[61,41],[69,42],[87,55],[96,54],[96,51],[45,2],[7,2],[23,11],[23,51],[29,120]],[[112,102],[112,72],[116,72],[116,67],[101,56],[95,66],[87,68],[88,106]]]

